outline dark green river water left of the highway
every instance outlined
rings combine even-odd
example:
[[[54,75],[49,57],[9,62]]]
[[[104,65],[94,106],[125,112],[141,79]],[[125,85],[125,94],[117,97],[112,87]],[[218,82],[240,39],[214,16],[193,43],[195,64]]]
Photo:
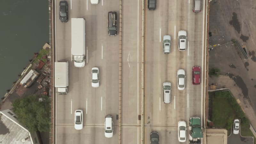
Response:
[[[0,98],[11,89],[28,60],[49,43],[48,0],[1,0]]]

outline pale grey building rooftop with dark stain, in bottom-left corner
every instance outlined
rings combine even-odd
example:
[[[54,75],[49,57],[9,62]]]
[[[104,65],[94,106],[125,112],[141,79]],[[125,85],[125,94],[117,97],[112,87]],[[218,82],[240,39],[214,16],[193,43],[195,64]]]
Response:
[[[9,109],[8,109],[9,110]],[[15,114],[12,111],[0,111],[0,143],[8,144],[32,144],[30,133],[15,122]],[[14,117],[14,120],[9,118]]]

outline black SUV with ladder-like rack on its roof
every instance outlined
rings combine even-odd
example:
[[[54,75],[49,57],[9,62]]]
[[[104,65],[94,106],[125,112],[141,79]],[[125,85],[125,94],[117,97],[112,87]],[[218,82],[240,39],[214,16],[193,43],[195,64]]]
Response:
[[[108,36],[116,36],[117,24],[116,24],[116,12],[108,12]]]

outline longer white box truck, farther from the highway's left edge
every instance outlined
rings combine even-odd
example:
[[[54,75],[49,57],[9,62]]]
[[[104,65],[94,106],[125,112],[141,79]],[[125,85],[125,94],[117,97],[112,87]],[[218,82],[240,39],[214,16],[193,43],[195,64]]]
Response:
[[[71,61],[77,68],[85,65],[85,20],[71,19]]]

